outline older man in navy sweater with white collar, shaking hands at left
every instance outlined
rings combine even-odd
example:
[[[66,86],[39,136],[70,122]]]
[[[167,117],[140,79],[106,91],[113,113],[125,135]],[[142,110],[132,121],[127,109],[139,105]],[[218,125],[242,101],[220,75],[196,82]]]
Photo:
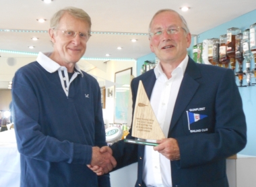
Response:
[[[110,186],[97,176],[116,162],[106,145],[98,82],[76,62],[86,52],[91,21],[82,9],[67,7],[51,19],[54,50],[38,54],[13,78],[15,133],[20,151],[21,186]]]

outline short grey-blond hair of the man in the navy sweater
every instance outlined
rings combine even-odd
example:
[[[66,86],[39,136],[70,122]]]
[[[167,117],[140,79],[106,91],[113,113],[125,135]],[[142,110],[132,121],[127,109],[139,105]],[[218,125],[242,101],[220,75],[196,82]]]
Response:
[[[92,22],[91,22],[90,16],[83,9],[78,9],[76,7],[65,7],[64,9],[57,11],[57,13],[55,13],[53,15],[53,17],[51,18],[50,26],[52,29],[55,29],[58,27],[59,21],[60,21],[61,17],[64,15],[64,13],[69,13],[69,15],[71,15],[77,19],[81,19],[85,23],[88,23],[89,33],[91,32]]]

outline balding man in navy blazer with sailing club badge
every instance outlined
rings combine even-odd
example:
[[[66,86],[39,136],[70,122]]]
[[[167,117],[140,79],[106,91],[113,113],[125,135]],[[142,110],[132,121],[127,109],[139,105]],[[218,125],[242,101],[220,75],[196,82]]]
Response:
[[[150,48],[160,64],[131,82],[133,111],[141,80],[168,138],[158,140],[156,147],[124,141],[111,146],[115,170],[138,162],[135,186],[226,187],[226,158],[246,145],[234,72],[195,63],[187,56],[190,44],[191,34],[179,13],[164,9],[154,15]],[[131,132],[127,138],[134,138]]]

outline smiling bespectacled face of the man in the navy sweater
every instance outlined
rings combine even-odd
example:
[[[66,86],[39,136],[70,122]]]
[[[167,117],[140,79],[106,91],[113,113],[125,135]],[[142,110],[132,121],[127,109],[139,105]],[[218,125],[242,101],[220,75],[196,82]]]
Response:
[[[53,54],[50,58],[61,66],[65,66],[69,72],[73,72],[75,63],[86,52],[87,40],[81,38],[79,34],[76,34],[74,38],[68,38],[62,32],[66,29],[73,30],[74,32],[88,33],[89,25],[81,19],[65,13],[61,17],[58,27],[56,29],[49,29],[51,41],[54,44]]]

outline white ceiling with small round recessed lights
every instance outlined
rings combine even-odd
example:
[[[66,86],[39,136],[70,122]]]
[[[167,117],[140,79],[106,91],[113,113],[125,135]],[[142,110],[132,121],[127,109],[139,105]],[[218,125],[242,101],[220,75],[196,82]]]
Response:
[[[102,58],[96,62],[103,63],[110,59],[137,59],[150,54],[146,33],[150,19],[159,9],[170,8],[181,13],[187,20],[191,34],[197,35],[256,8],[255,0],[53,0],[49,4],[42,0],[1,1],[0,89],[7,88],[15,70],[34,61],[38,52],[53,49],[47,33],[49,20],[53,13],[63,7],[82,8],[92,18],[93,33],[84,55],[84,70],[95,67],[95,60],[91,58]],[[191,9],[182,12],[180,7],[184,5]],[[38,23],[36,19],[40,18],[46,21]],[[9,32],[6,32],[7,29]],[[32,37],[39,40],[32,41]],[[133,38],[137,42],[132,43]],[[28,46],[35,48],[31,50]],[[123,49],[117,50],[118,46]],[[106,53],[110,57],[106,57]],[[7,58],[15,58],[15,66],[8,66]]]

